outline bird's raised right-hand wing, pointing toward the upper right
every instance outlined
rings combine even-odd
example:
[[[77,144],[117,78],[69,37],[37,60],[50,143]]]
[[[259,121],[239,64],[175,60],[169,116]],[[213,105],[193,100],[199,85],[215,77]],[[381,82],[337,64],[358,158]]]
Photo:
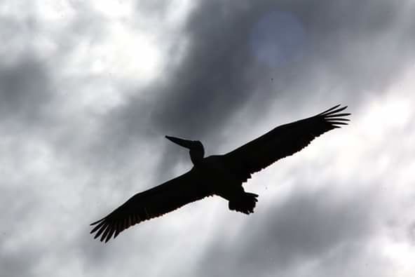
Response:
[[[325,112],[278,126],[265,135],[225,154],[226,163],[246,180],[252,173],[266,168],[280,158],[306,147],[315,137],[346,125],[346,107],[337,105]]]

